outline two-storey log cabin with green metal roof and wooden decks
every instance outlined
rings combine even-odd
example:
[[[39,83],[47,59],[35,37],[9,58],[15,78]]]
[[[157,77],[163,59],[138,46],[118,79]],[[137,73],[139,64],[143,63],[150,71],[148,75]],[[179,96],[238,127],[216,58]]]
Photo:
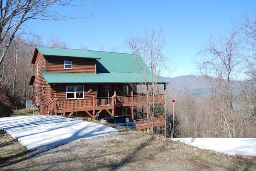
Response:
[[[94,119],[131,115],[137,129],[150,127],[148,112],[147,118],[136,119],[137,106],[145,105],[147,98],[137,93],[136,85],[152,82],[140,55],[36,46],[32,64],[30,85],[41,115]],[[169,82],[161,78],[157,82],[164,91],[155,95],[154,102],[165,103]],[[154,122],[164,128],[165,117],[156,117]]]

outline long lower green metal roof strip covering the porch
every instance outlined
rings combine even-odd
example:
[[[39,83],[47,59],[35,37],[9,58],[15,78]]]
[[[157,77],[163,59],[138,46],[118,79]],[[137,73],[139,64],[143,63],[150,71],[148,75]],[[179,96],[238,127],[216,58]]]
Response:
[[[42,72],[42,76],[48,84],[62,83],[144,83],[145,77],[141,73],[100,73],[100,74],[77,74],[77,73],[46,73]],[[147,82],[151,82],[151,74],[146,74]],[[169,83],[162,78],[155,78],[155,82]]]

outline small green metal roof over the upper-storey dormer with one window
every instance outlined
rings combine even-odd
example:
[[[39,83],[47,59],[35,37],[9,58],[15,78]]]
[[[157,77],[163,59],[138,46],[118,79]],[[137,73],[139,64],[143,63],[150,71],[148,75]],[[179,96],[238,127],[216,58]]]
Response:
[[[100,59],[98,56],[96,56],[95,54],[91,53],[88,50],[52,48],[52,47],[43,47],[43,46],[36,46],[36,49],[43,56],[65,56],[65,57],[76,57],[76,58]]]

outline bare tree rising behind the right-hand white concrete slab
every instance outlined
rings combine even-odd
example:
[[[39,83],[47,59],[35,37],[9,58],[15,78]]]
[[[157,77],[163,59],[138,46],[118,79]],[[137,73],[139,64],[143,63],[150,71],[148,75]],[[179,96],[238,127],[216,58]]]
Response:
[[[234,27],[230,34],[220,34],[216,41],[211,36],[198,53],[198,57],[201,57],[198,62],[200,74],[216,82],[212,93],[218,101],[217,108],[222,114],[221,117],[226,119],[230,137],[237,137],[233,83],[242,72],[239,48],[240,37]]]

